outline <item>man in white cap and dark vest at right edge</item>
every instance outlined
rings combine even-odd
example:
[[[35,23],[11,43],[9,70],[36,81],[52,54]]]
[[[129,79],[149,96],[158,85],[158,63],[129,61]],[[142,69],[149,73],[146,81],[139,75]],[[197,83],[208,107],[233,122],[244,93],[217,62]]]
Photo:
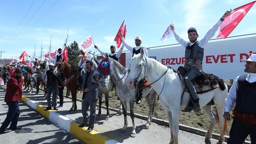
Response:
[[[246,63],[247,74],[238,76],[231,86],[223,117],[230,121],[229,112],[235,105],[228,144],[243,144],[249,134],[251,144],[256,144],[256,54],[241,61]]]

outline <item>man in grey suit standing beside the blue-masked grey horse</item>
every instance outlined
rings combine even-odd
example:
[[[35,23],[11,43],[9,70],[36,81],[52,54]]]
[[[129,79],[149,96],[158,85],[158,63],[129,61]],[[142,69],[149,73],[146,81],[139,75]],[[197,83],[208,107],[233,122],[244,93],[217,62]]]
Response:
[[[84,74],[83,83],[81,91],[83,91],[82,97],[82,114],[84,117],[84,121],[82,124],[78,125],[79,127],[87,127],[86,132],[91,132],[94,128],[94,122],[96,117],[96,101],[98,99],[98,91],[97,87],[99,83],[94,83],[91,80],[91,76],[94,73],[93,62],[91,60],[87,60],[85,62],[85,67],[87,72]],[[88,118],[88,109],[90,106],[90,118]]]

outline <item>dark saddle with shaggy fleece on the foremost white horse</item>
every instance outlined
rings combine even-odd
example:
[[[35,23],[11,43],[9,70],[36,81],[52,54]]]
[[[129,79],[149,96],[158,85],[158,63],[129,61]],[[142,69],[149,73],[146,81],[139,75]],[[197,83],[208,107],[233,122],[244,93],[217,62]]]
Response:
[[[187,74],[187,71],[182,66],[180,66],[177,69],[177,71],[181,79]],[[224,82],[224,81],[219,79],[219,77],[213,74],[204,74],[204,75],[198,76],[192,82],[196,88],[197,94],[203,94],[218,88],[219,82]],[[189,92],[189,90],[183,83],[182,83],[182,87],[185,89],[185,91]]]

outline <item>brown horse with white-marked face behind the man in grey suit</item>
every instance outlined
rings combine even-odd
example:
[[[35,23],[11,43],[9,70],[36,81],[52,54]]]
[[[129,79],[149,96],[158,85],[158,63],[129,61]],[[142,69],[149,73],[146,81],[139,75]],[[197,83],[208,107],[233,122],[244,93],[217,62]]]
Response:
[[[56,67],[53,71],[53,74],[58,75],[57,71],[63,72],[65,78],[67,79],[66,82],[66,87],[71,91],[71,96],[72,96],[72,102],[73,105],[70,108],[69,112],[73,111],[75,112],[77,110],[77,105],[76,105],[76,94],[77,90],[79,89],[80,85],[79,82],[77,81],[77,76],[78,76],[78,71],[75,68],[72,68],[70,64],[67,62],[63,62],[61,59],[56,63],[58,67]],[[57,71],[56,71],[57,70]]]

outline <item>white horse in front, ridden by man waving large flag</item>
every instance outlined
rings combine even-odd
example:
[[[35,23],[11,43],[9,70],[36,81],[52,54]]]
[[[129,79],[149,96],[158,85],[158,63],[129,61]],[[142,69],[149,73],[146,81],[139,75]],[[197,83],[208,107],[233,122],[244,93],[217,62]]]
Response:
[[[126,80],[126,85],[132,89],[134,80],[141,80],[143,78],[146,78],[150,84],[152,83],[152,87],[157,92],[160,103],[165,108],[168,115],[169,127],[171,130],[170,144],[178,144],[180,111],[185,109],[190,101],[188,92],[185,92],[182,98],[183,84],[179,74],[175,73],[173,69],[168,69],[155,59],[144,57],[144,50],[142,49],[141,54],[133,56],[131,59],[130,73]],[[222,144],[225,140],[224,133],[227,123],[222,116],[224,114],[224,101],[227,93],[227,85],[223,82],[219,83],[219,87],[212,91],[198,94],[198,97],[200,98],[199,104],[210,118],[211,123],[205,135],[206,144],[211,144],[210,138],[212,137],[213,128],[217,121],[219,121],[220,126],[220,138],[218,144]],[[216,116],[211,106],[207,105],[211,100],[215,103],[219,117],[218,113]]]

